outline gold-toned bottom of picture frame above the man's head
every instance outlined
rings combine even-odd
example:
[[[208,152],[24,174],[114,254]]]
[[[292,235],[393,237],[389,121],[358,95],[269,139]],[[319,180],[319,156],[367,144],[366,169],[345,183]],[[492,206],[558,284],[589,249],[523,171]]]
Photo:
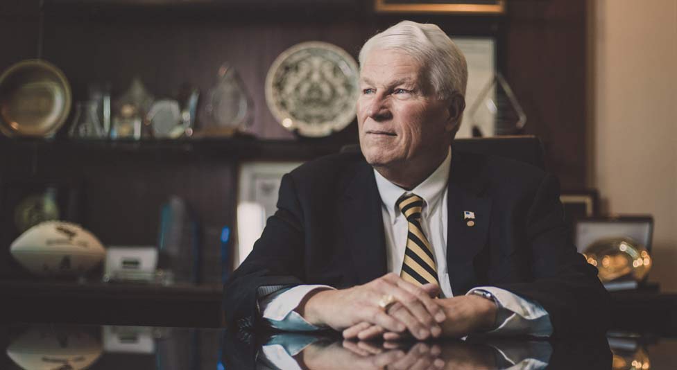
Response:
[[[377,12],[502,14],[505,0],[375,0]]]

